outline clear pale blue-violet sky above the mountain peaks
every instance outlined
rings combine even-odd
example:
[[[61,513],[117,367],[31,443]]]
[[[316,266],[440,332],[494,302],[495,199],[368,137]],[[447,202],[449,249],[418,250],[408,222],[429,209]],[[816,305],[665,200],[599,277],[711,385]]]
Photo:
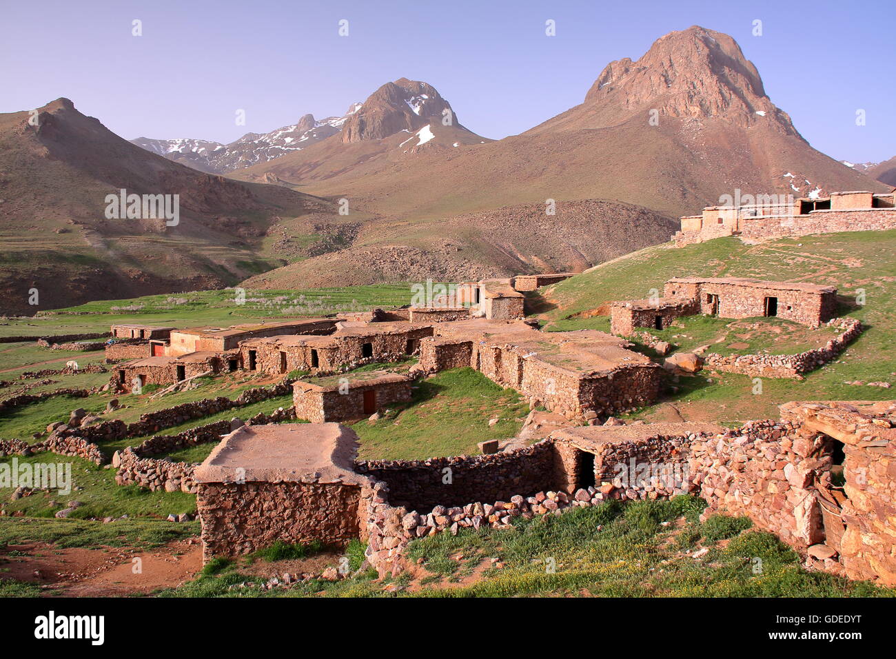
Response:
[[[341,115],[405,76],[435,86],[474,132],[500,138],[580,103],[607,62],[699,24],[737,39],[817,149],[886,160],[896,155],[892,10],[892,0],[2,0],[0,112],[65,96],[128,139],[229,142],[307,112]],[[556,37],[545,36],[547,19]]]

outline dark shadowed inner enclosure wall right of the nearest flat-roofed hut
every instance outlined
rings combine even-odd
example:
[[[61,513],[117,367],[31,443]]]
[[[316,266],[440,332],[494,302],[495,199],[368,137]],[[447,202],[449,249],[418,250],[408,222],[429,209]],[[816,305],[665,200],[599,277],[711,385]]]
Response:
[[[428,512],[439,505],[462,506],[551,490],[555,467],[553,444],[539,442],[491,455],[369,460],[358,462],[356,471],[385,482],[393,506]],[[451,482],[444,482],[449,475]]]

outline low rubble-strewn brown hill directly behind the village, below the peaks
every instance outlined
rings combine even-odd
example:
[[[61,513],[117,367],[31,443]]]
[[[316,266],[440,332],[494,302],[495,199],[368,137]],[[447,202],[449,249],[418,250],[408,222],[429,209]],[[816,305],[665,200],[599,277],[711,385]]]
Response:
[[[665,242],[677,223],[633,204],[598,200],[526,204],[439,221],[367,222],[351,247],[267,273],[249,288],[340,286],[346,282],[478,281],[520,273],[580,272]]]

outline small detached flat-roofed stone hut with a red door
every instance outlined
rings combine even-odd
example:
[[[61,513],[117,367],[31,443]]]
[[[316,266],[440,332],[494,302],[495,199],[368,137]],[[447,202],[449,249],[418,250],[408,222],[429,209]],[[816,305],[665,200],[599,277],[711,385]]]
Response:
[[[384,370],[298,380],[292,385],[296,418],[358,421],[410,400],[411,378]]]

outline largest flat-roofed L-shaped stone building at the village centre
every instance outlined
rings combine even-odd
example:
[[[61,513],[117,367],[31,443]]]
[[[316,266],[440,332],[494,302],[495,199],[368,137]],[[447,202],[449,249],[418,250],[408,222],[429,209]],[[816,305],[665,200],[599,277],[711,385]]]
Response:
[[[419,369],[468,366],[575,421],[633,410],[659,395],[659,366],[603,332],[539,332],[486,319],[443,323],[434,331],[420,344]]]

